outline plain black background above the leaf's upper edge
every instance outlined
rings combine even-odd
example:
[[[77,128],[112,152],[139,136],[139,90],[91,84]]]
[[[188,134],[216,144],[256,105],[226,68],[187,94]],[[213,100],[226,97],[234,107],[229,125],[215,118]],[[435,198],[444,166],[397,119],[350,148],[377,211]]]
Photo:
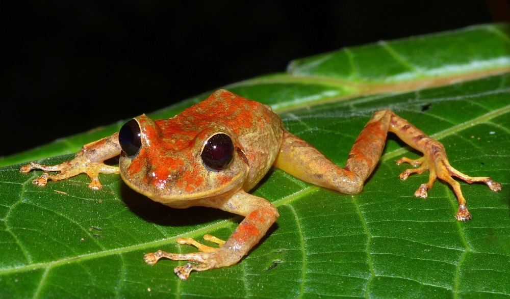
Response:
[[[29,1],[3,7],[0,156],[296,58],[508,21],[507,0]]]

